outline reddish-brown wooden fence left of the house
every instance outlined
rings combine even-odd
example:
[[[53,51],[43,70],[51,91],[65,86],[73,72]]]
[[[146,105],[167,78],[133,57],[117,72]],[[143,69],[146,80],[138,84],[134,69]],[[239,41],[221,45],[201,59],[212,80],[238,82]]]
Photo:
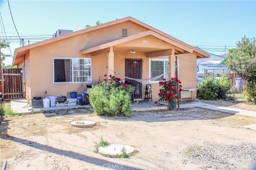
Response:
[[[22,69],[3,69],[2,94],[4,99],[24,97]]]

